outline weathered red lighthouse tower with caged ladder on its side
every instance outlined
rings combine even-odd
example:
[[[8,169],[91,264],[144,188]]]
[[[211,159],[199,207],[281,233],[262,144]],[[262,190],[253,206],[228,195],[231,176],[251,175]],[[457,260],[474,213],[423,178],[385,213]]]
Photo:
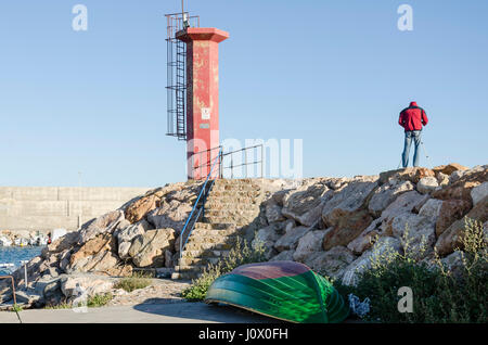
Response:
[[[229,34],[184,11],[166,18],[167,135],[187,141],[188,178],[204,179],[219,154],[219,43]]]

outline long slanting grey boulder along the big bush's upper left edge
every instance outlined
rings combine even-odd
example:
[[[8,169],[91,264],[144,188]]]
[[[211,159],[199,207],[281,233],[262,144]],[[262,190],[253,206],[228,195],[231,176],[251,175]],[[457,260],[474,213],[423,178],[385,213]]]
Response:
[[[371,269],[373,263],[381,263],[385,256],[398,253],[401,248],[400,241],[390,237],[381,238],[371,250],[364,252],[358,259],[344,268],[342,283],[356,285],[361,273]]]

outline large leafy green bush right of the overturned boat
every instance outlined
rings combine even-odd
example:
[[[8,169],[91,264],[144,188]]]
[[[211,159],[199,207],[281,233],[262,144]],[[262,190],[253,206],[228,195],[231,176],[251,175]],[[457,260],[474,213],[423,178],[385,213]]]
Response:
[[[466,219],[459,263],[448,267],[435,253],[434,263],[421,260],[412,250],[406,229],[403,253],[389,250],[373,255],[371,269],[359,277],[354,288],[338,286],[371,299],[367,318],[373,322],[484,322],[488,321],[487,239],[480,222]],[[424,247],[425,248],[425,247]],[[413,312],[397,309],[398,289],[413,292]]]

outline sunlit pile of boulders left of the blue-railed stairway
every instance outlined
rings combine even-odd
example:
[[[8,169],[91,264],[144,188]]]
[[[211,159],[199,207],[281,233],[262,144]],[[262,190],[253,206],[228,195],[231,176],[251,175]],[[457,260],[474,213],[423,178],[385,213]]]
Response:
[[[74,299],[77,285],[89,295],[110,291],[114,280],[103,276],[170,269],[175,242],[201,186],[182,182],[149,191],[53,241],[27,264],[28,289],[24,268],[13,273],[17,301],[25,307],[56,305]],[[8,282],[0,281],[0,304],[12,303],[12,297]]]

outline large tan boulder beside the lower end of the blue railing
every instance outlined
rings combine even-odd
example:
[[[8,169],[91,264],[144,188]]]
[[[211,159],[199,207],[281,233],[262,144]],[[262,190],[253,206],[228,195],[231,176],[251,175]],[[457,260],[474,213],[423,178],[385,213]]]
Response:
[[[129,255],[137,267],[165,267],[165,251],[171,251],[175,240],[174,229],[149,230],[132,241]]]

